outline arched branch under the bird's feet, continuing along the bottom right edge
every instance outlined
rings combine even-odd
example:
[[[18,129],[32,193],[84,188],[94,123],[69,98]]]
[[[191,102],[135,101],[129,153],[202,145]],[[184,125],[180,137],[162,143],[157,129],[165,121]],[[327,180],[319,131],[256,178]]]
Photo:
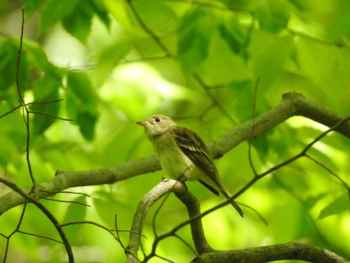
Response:
[[[240,250],[214,250],[205,238],[201,220],[201,217],[208,214],[208,212],[210,213],[212,209],[205,211],[201,215],[200,205],[196,197],[187,191],[186,186],[179,181],[168,179],[159,183],[140,201],[132,223],[128,250],[125,251],[128,259],[126,263],[140,262],[137,252],[140,247],[140,237],[148,210],[157,200],[170,192],[174,192],[176,197],[186,205],[189,220],[175,226],[165,234],[156,237],[151,253],[145,256],[142,262],[148,262],[149,259],[155,256],[156,247],[161,240],[174,235],[184,225],[190,224],[192,238],[198,252],[198,256],[192,262],[196,263],[262,263],[279,260],[302,260],[314,263],[350,263],[347,259],[327,249],[297,242]]]

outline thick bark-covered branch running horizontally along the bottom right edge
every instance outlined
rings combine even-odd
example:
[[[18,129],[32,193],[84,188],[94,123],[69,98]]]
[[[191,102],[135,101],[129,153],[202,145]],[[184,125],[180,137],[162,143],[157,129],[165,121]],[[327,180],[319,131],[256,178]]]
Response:
[[[202,254],[193,262],[201,263],[262,263],[296,259],[314,263],[349,263],[345,258],[333,252],[307,244],[289,242],[240,250],[216,250]]]

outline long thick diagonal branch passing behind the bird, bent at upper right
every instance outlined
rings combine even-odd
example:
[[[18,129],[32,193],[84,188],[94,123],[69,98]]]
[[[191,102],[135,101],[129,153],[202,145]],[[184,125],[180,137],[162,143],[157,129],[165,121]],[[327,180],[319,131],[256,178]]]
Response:
[[[310,101],[302,94],[287,93],[283,95],[283,99],[279,104],[256,117],[254,121],[250,120],[237,125],[217,140],[210,142],[208,144],[209,149],[215,158],[219,158],[240,142],[250,139],[253,125],[253,136],[255,137],[296,115],[307,117],[328,127],[331,127],[345,117]],[[336,130],[350,138],[349,122],[342,124]],[[38,187],[47,191],[60,191],[70,187],[109,184],[160,169],[158,158],[156,156],[149,156],[143,159],[130,160],[109,168],[89,171],[61,171],[57,173],[55,178],[40,183]],[[31,187],[22,190],[28,193],[30,189]],[[48,193],[43,194],[43,196],[49,195]],[[0,215],[8,209],[23,203],[24,198],[14,191],[1,196]]]

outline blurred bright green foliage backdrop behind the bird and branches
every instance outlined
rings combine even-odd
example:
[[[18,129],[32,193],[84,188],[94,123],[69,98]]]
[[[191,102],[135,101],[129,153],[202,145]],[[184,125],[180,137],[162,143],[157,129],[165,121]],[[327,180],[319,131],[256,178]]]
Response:
[[[0,3],[0,114],[19,105],[16,65],[25,10],[19,84],[30,110],[74,119],[65,122],[30,115],[30,159],[38,182],[58,169],[90,170],[153,155],[141,127],[153,114],[173,117],[210,142],[256,112],[275,106],[286,92],[349,115],[350,2],[348,1],[186,1],[186,0],[22,0]],[[25,159],[26,128],[20,109],[0,119],[0,176],[20,187],[31,181]],[[299,153],[325,127],[301,117],[253,140],[258,172]],[[349,183],[349,140],[335,132],[310,153]],[[223,181],[235,193],[253,176],[248,143],[216,160]],[[60,222],[91,220],[130,229],[143,195],[162,171],[113,185],[70,189],[91,197],[57,194],[56,199],[91,205],[42,202]],[[209,209],[223,201],[200,184],[188,184]],[[1,194],[9,189],[0,185]],[[324,247],[350,258],[349,196],[343,184],[308,159],[300,159],[258,181],[238,199],[239,218],[231,207],[203,218],[209,244],[240,249],[298,241]],[[22,207],[0,217],[0,232],[16,228]],[[152,242],[151,209],[144,234]],[[187,218],[170,196],[156,218],[157,232]],[[34,205],[28,205],[21,231],[58,238],[54,227]],[[77,262],[123,262],[119,244],[93,225],[66,227]],[[179,235],[191,244],[189,227]],[[127,243],[128,234],[121,233]],[[6,246],[0,237],[0,255]],[[174,253],[173,248],[181,253]],[[157,250],[175,262],[195,254],[169,238]],[[25,234],[10,238],[7,262],[61,262],[62,245]],[[152,262],[164,262],[154,258]]]

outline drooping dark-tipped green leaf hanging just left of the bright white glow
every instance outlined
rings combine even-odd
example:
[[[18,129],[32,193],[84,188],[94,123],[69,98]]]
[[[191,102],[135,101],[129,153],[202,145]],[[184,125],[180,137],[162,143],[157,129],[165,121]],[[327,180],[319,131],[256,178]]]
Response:
[[[86,140],[94,137],[94,126],[97,121],[97,98],[90,80],[82,72],[67,74],[66,108],[69,116],[76,121],[80,133]]]

